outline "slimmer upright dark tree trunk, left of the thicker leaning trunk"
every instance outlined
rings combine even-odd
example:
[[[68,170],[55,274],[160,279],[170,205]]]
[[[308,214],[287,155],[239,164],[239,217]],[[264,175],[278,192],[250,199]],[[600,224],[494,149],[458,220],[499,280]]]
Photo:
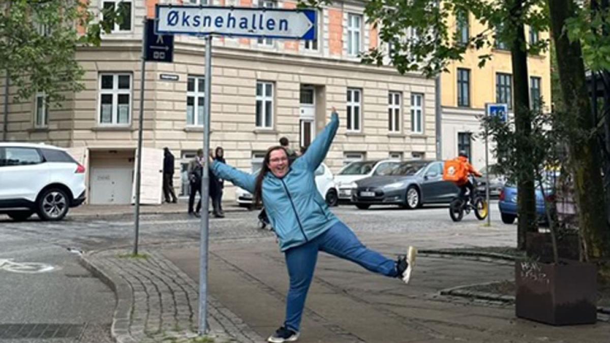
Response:
[[[519,153],[531,156],[527,137],[531,135],[531,117],[529,112],[528,54],[525,45],[522,9],[524,0],[508,0],[511,9],[507,28],[514,32],[511,44],[512,77],[514,84],[515,131],[519,134]],[[537,231],[536,193],[534,192],[534,169],[523,164],[524,170],[517,180],[517,248],[525,250],[526,233]]]

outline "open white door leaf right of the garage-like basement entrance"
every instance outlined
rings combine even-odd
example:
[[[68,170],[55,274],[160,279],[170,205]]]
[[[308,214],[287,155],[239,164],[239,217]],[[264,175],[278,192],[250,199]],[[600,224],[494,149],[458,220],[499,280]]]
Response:
[[[137,156],[137,155],[135,155]],[[134,159],[134,171],[137,170]],[[163,193],[163,150],[142,148],[142,176],[140,178],[140,204],[160,204]],[[131,203],[135,203],[135,174]]]

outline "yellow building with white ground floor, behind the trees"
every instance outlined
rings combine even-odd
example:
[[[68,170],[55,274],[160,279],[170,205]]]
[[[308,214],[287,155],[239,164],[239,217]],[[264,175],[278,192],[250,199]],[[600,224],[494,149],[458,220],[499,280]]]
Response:
[[[450,18],[449,27],[454,29],[453,32],[458,32],[461,40],[486,29],[472,14],[468,15],[468,20],[464,19],[465,16],[461,20]],[[528,43],[548,38],[547,32],[533,32],[529,27],[525,28],[525,35]],[[492,54],[492,60],[479,68],[478,56],[484,54]],[[541,97],[542,101],[550,104],[550,64],[548,51],[528,57],[530,99]],[[481,168],[485,165],[485,140],[479,135],[479,116],[484,115],[485,104],[508,103],[509,113],[512,113],[514,91],[511,52],[501,42],[495,42],[494,48],[468,49],[464,60],[451,63],[448,70],[440,77],[442,158],[453,158],[460,150],[465,150],[475,167]],[[545,109],[548,107],[545,105]],[[490,163],[495,161],[492,153],[489,158]]]

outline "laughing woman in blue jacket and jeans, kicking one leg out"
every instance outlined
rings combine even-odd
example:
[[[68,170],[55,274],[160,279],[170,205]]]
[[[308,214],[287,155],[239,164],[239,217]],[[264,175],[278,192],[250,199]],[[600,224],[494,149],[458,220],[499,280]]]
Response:
[[[307,152],[289,165],[283,146],[267,150],[258,175],[250,175],[218,161],[212,171],[253,193],[254,203],[267,209],[290,277],[285,321],[268,338],[271,343],[294,342],[300,334],[307,291],[314,275],[318,251],[355,262],[371,272],[409,283],[417,250],[409,247],[397,261],[365,247],[345,223],[329,211],[315,186],[314,172],[325,159],[339,128],[339,115],[332,109],[331,122],[311,143]]]

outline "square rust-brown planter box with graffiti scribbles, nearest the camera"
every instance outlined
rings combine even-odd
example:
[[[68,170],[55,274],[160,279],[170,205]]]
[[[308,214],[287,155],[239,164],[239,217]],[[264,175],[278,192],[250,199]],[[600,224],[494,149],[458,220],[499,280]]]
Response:
[[[597,321],[597,266],[562,260],[515,263],[515,314],[551,325]]]

